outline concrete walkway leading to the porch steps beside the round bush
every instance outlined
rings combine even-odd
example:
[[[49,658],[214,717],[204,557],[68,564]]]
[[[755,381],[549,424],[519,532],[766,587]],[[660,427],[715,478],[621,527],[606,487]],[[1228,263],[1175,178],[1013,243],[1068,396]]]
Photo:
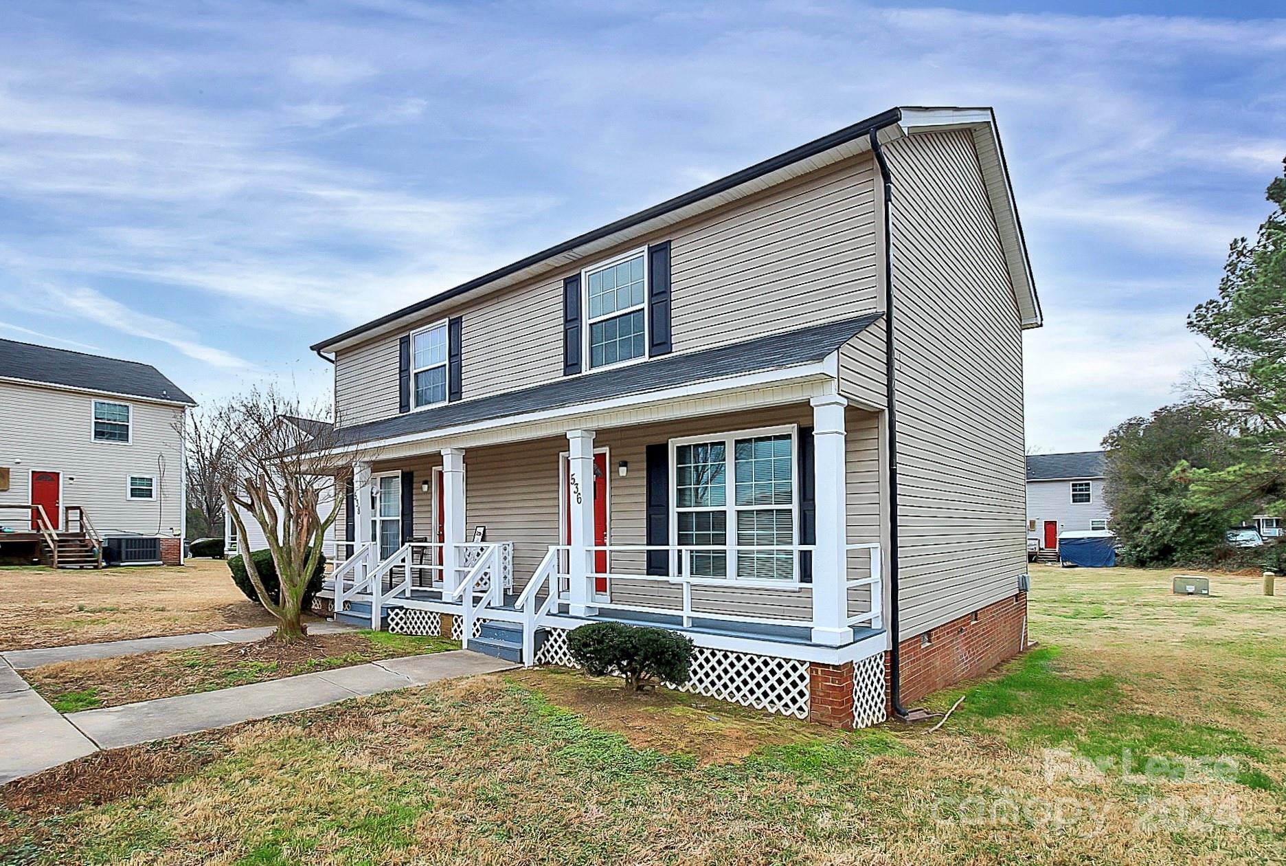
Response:
[[[324,704],[423,686],[454,677],[508,670],[516,665],[481,652],[453,650],[386,659],[351,668],[306,673],[198,695],[71,713],[66,718],[100,749],[117,749],[181,733],[294,713]]]

